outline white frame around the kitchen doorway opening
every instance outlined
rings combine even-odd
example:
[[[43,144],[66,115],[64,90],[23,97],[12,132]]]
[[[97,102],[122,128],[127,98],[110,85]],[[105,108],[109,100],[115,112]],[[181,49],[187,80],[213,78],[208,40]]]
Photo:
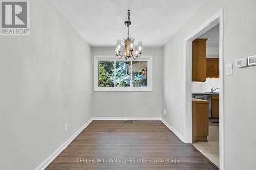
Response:
[[[220,144],[220,169],[224,169],[224,9],[209,18],[198,29],[184,39],[184,111],[183,128],[184,142],[192,143],[192,41],[204,34],[217,24],[220,24],[220,117],[219,117],[219,144]]]

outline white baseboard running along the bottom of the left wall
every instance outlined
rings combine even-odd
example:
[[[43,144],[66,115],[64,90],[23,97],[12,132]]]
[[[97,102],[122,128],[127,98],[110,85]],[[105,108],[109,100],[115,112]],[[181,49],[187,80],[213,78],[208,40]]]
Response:
[[[35,168],[35,170],[43,170],[43,169],[45,169],[66,147],[68,147],[68,145],[76,138],[76,136],[79,135],[79,133],[81,133],[81,131],[84,128],[86,128],[92,122],[92,120],[93,119],[90,118],[87,123],[85,123],[80,129],[78,129],[78,131],[76,131],[72,136],[70,136],[70,138],[68,140],[66,140],[63,144],[61,144],[61,146],[56,151],[54,151],[37,168]]]

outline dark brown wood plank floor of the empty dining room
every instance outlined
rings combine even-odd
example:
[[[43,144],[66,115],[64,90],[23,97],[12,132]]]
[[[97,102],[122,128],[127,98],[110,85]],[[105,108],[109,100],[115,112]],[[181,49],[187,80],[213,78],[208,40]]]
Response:
[[[169,162],[156,163],[155,159]],[[175,160],[179,162],[174,163]],[[184,144],[161,121],[93,121],[46,169],[185,170],[218,167],[191,144]]]

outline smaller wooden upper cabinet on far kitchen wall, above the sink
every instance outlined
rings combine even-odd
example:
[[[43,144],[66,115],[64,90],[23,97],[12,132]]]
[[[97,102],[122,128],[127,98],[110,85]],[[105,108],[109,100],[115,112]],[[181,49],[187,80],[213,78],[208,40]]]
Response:
[[[206,77],[219,77],[219,58],[206,59]]]

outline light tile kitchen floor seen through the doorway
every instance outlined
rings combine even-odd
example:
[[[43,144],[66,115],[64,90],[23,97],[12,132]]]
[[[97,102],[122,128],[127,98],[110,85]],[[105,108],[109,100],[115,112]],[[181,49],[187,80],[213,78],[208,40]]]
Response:
[[[219,167],[219,123],[212,123],[212,121],[216,120],[209,120],[208,142],[195,142],[193,145]]]

